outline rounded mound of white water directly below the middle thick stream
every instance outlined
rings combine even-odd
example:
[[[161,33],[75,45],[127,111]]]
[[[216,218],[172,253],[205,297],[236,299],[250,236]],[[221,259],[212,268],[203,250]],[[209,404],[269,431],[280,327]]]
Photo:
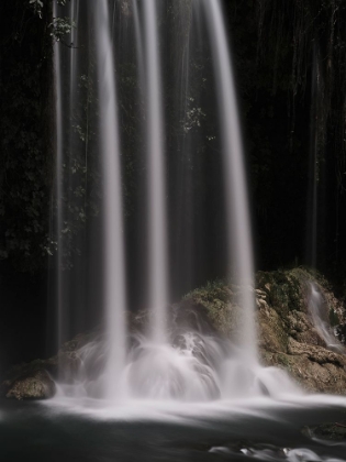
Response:
[[[129,359],[126,382],[136,398],[207,402],[220,397],[215,364],[205,354],[220,348],[214,339],[187,332],[180,345],[157,345],[138,338]],[[216,354],[217,354],[216,353]]]

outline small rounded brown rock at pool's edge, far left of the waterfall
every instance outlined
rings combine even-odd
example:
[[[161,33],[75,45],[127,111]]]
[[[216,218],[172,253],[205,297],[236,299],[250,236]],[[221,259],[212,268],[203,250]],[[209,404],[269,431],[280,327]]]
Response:
[[[34,371],[13,382],[7,381],[3,386],[8,386],[5,397],[14,399],[47,399],[56,393],[55,383],[44,370]]]

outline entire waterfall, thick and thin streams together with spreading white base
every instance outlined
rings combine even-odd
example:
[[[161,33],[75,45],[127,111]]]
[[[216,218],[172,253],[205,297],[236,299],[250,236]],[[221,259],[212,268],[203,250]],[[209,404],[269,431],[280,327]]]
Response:
[[[276,384],[284,383],[286,377],[282,378],[280,372],[272,373],[271,370],[261,369],[257,361],[254,262],[244,150],[231,52],[221,1],[192,0],[183,4],[183,8],[180,3],[179,6],[175,4],[174,16],[178,18],[178,22],[175,24],[179,24],[179,21],[182,22],[183,18],[186,29],[181,40],[176,35],[176,41],[172,41],[174,45],[170,43],[170,46],[174,47],[175,63],[178,63],[178,69],[172,69],[174,75],[164,73],[165,65],[171,56],[166,56],[163,50],[171,36],[166,35],[161,28],[165,14],[167,14],[163,6],[163,2],[156,0],[115,0],[112,7],[109,7],[108,0],[98,2],[90,0],[87,4],[75,0],[71,3],[71,10],[76,11],[77,16],[83,18],[85,21],[87,19],[88,26],[82,29],[82,33],[78,33],[78,48],[71,50],[69,56],[70,124],[72,123],[75,100],[77,106],[78,103],[82,105],[78,96],[76,80],[78,69],[82,67],[86,55],[90,59],[88,73],[90,70],[91,74],[90,81],[88,80],[88,91],[89,85],[94,87],[92,88],[94,99],[89,101],[89,94],[87,99],[88,114],[94,112],[90,120],[87,114],[87,132],[91,134],[90,158],[100,158],[102,177],[101,197],[98,205],[102,217],[99,221],[101,232],[97,233],[97,239],[100,241],[99,253],[103,265],[103,287],[94,310],[100,310],[104,315],[104,336],[103,331],[101,334],[99,332],[96,339],[78,350],[79,376],[76,383],[68,385],[68,393],[74,396],[88,395],[118,402],[124,398],[205,402],[275,393]],[[119,18],[123,20],[123,34],[115,33]],[[133,24],[130,21],[133,21]],[[175,31],[175,34],[179,34],[179,31]],[[88,43],[87,54],[82,40]],[[118,53],[120,47],[118,40],[122,45],[125,42],[125,51],[121,50]],[[182,50],[180,50],[180,45],[183,45]],[[180,55],[181,52],[185,54]],[[212,63],[208,64],[207,75],[210,78],[208,81],[203,79],[204,74],[200,73],[205,63],[203,59],[201,59],[202,64],[199,62],[201,55],[205,53],[208,56],[205,62],[211,61]],[[114,56],[116,56],[116,62]],[[212,56],[212,59],[209,56]],[[64,134],[60,101],[63,87],[60,81],[62,56],[59,56],[57,47],[55,57],[57,173],[62,175]],[[77,62],[79,66],[77,66]],[[131,69],[130,74],[129,69]],[[126,87],[129,82],[133,81],[135,85]],[[197,81],[204,86],[204,92],[200,88],[196,88]],[[171,85],[169,88],[172,88],[174,97],[170,96],[172,103],[167,108],[165,91],[169,85]],[[131,98],[126,94],[129,88],[132,91]],[[203,109],[205,91],[208,103],[205,103],[207,109]],[[191,97],[192,94],[193,97]],[[133,114],[134,108],[137,108],[138,114]],[[209,133],[204,133],[201,128],[205,117],[204,112],[208,110],[212,114],[209,117],[215,119],[211,124],[215,127],[212,129],[215,132],[212,132],[211,136]],[[143,323],[147,322],[147,326],[145,324],[143,330],[139,329],[139,332],[133,331],[134,322],[132,321],[135,316],[133,312],[129,312],[130,304],[126,290],[133,290],[133,287],[137,287],[137,285],[132,285],[132,280],[126,278],[129,260],[132,265],[133,262],[129,258],[131,252],[129,252],[129,242],[125,240],[123,210],[129,186],[126,162],[129,162],[129,155],[132,155],[129,145],[126,145],[126,127],[124,125],[135,119],[133,127],[138,133],[134,133],[132,128],[131,133],[134,138],[130,145],[132,150],[135,146],[144,160],[143,164],[141,163],[144,166],[144,173],[142,173],[143,178],[141,177],[139,183],[145,183],[146,189],[146,194],[143,194],[144,199],[141,198],[139,201],[141,205],[145,205],[144,210],[141,209],[139,213],[146,215],[146,230],[136,230],[135,235],[141,238],[141,243],[145,241],[147,246],[147,251],[143,252],[144,262],[141,262],[141,268],[144,270],[141,278],[146,282],[148,294],[147,300],[143,302],[147,310],[142,318]],[[171,121],[174,121],[175,128],[179,127],[181,132],[175,142],[169,144],[169,122]],[[74,139],[71,127],[65,128],[64,125],[64,130],[70,130],[69,138],[66,135],[70,143],[69,151],[79,150],[81,145],[78,145]],[[191,134],[193,130],[196,133]],[[86,151],[89,148],[88,133],[85,136],[85,145],[82,145]],[[138,140],[142,138],[144,138],[144,142],[141,144]],[[223,177],[219,180],[217,176],[217,184],[223,184],[223,188],[220,187],[221,198],[217,196],[219,189],[217,194],[207,191],[207,187],[203,185],[201,194],[200,189],[196,187],[200,182],[200,177],[196,178],[196,169],[204,167],[199,158],[201,152],[204,153],[204,146],[200,151],[198,148],[205,143],[205,140],[216,140],[215,148],[212,146],[211,152],[213,155],[215,153],[217,155],[217,157],[213,157],[213,161],[216,157],[214,162],[222,165],[220,172],[222,170]],[[182,155],[183,158],[174,163],[171,156],[176,155]],[[133,161],[132,157],[131,161]],[[174,165],[174,168],[167,172],[167,165]],[[205,165],[211,164],[207,163]],[[216,169],[216,172],[219,170]],[[181,188],[178,197],[174,198],[175,200],[167,198],[171,193],[166,185],[168,174],[170,186]],[[210,172],[207,170],[204,175],[202,178],[209,177]],[[57,198],[59,200],[62,198],[62,190],[58,189],[60,184],[62,180],[57,182]],[[138,185],[136,186],[141,189]],[[98,195],[97,185],[91,184],[90,189],[96,189],[94,195]],[[196,278],[191,274],[193,271],[203,273],[203,268],[200,268],[201,262],[215,260],[214,255],[209,260],[196,255],[201,251],[201,243],[208,248],[210,245],[208,251],[211,254],[215,249],[214,243],[207,242],[210,238],[208,232],[203,234],[202,239],[198,235],[200,230],[194,212],[196,205],[198,208],[202,208],[203,200],[212,194],[219,198],[220,208],[224,211],[223,223],[226,232],[222,231],[221,233],[225,235],[226,241],[224,248],[227,252],[223,252],[226,253],[224,260],[227,261],[227,273],[228,279],[233,284],[232,287],[236,287],[235,302],[242,312],[242,321],[237,327],[239,332],[235,342],[232,339],[233,343],[220,339],[211,332],[205,333],[200,327],[199,320],[196,321],[193,328],[181,327],[177,322],[179,317],[187,319],[189,316],[198,317],[198,314],[177,314],[175,307],[170,307],[170,311],[167,310],[172,285],[170,280],[172,267],[179,272],[177,262],[182,265],[183,262],[187,262],[187,267],[181,271],[181,275],[188,275],[193,280]],[[89,196],[86,200],[89,200]],[[172,202],[175,204],[175,213],[169,213],[168,205]],[[59,213],[63,211],[60,204]],[[198,224],[203,224],[209,216],[213,217],[213,210],[210,215],[202,211],[200,213],[202,219],[198,218]],[[62,215],[58,217],[59,229],[62,229]],[[181,223],[174,223],[176,227],[174,228],[171,224],[176,218],[181,220]],[[134,220],[134,222],[138,221]],[[213,229],[214,223],[205,223],[205,226],[210,227],[208,228],[210,230]],[[177,255],[170,254],[169,258],[168,229],[171,231],[172,228],[179,230],[178,238],[171,235],[172,232],[170,233],[170,240],[176,239],[171,248]],[[212,233],[211,235],[213,237]],[[129,240],[127,234],[126,238]],[[64,263],[62,262],[62,242],[58,244],[58,260],[62,266]],[[139,244],[136,242],[135,249],[138,246]],[[205,253],[208,252],[205,251]],[[174,258],[175,265],[171,262]],[[91,274],[90,284],[92,286],[97,277],[96,271],[90,267],[88,254],[83,261]],[[80,268],[80,265],[78,267]],[[205,272],[205,274],[209,273]],[[59,277],[60,273],[58,273],[58,285],[63,290]],[[177,280],[179,277],[180,274]],[[183,283],[186,282],[182,282],[181,286]],[[59,298],[60,305],[65,298]],[[103,310],[100,309],[102,305]],[[64,312],[63,309],[66,309],[63,306],[60,308],[59,312]],[[127,314],[131,327],[126,322]],[[58,329],[60,328],[59,321]],[[75,392],[70,392],[71,388]]]

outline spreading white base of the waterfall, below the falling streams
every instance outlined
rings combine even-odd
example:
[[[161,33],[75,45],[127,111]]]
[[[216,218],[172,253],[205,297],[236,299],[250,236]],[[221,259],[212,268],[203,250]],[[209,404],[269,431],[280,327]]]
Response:
[[[178,332],[171,342],[153,343],[134,336],[123,373],[114,384],[112,402],[148,399],[207,403],[246,397],[280,397],[302,392],[284,371],[247,363],[225,340],[200,332]],[[102,340],[85,345],[72,381],[60,382],[58,396],[102,398],[107,376],[100,371],[107,348]],[[96,367],[97,365],[97,367]],[[125,391],[120,397],[119,388]],[[112,389],[112,384],[108,384]]]

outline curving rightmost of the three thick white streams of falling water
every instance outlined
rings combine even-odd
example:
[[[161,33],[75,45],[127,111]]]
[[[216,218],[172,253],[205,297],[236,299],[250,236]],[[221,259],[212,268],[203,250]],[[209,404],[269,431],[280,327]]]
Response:
[[[256,364],[254,263],[244,150],[226,31],[219,0],[203,0],[214,57],[224,161],[228,270],[239,285],[243,328],[239,346],[244,360]]]

